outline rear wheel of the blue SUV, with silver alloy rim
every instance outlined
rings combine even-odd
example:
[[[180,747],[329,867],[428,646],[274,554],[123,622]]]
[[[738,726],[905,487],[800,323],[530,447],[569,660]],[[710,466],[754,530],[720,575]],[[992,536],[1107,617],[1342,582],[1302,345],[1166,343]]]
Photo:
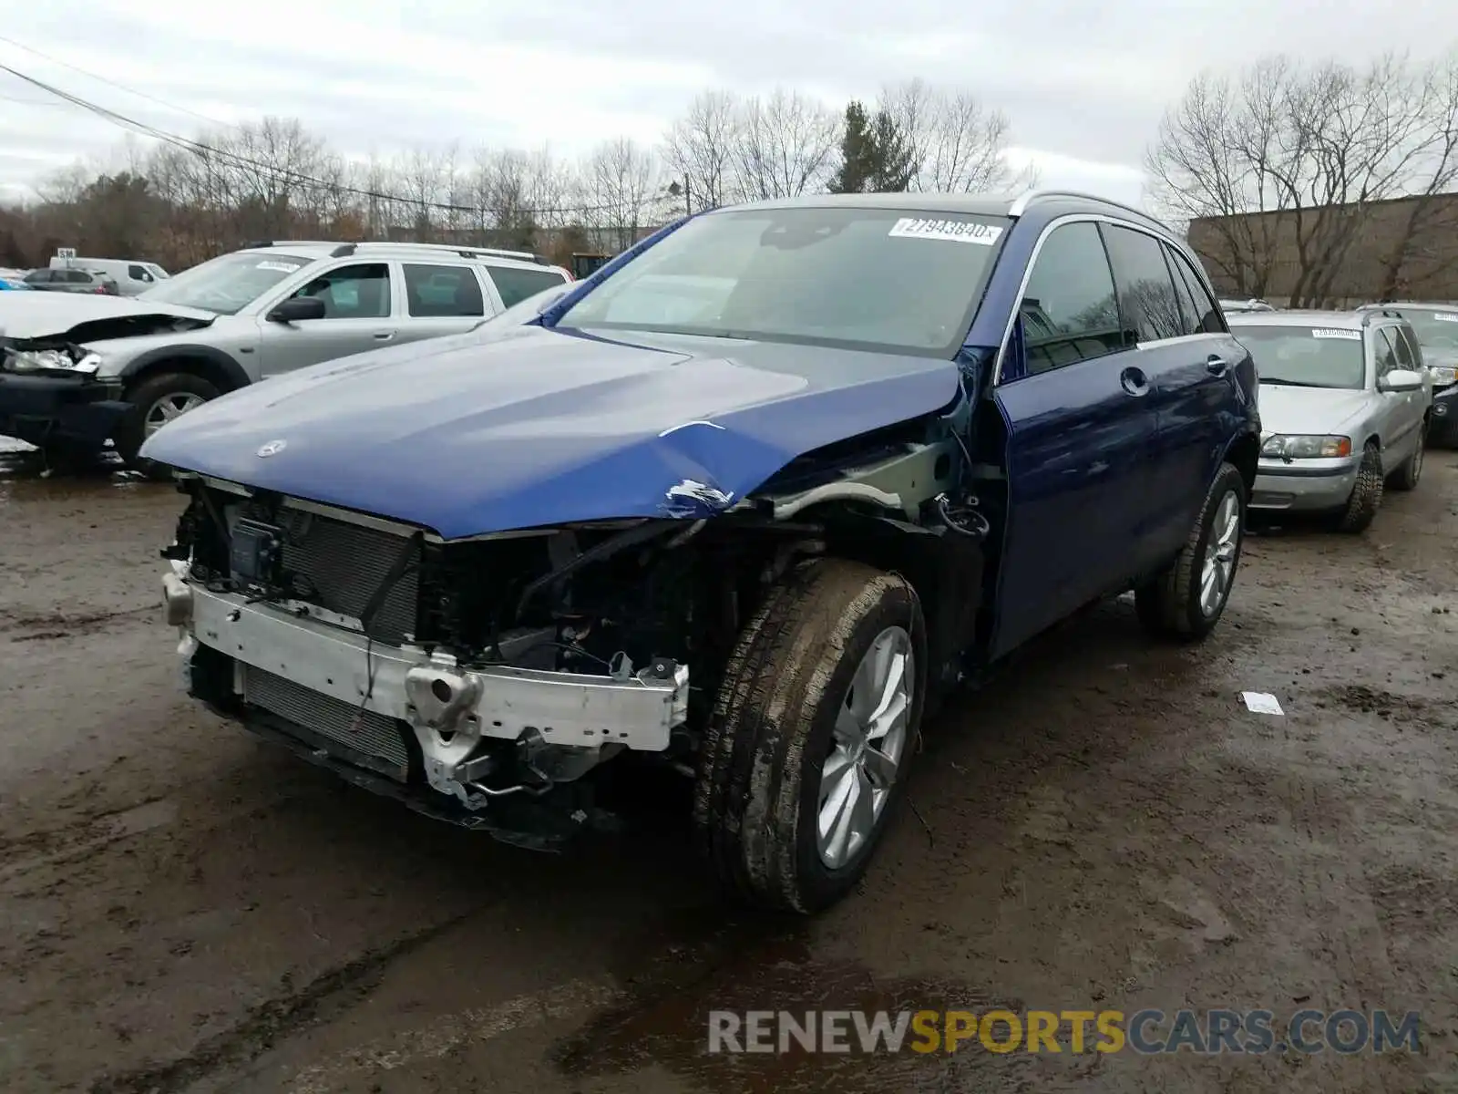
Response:
[[[1161,637],[1203,639],[1225,614],[1245,540],[1245,480],[1222,464],[1190,538],[1172,563],[1134,591],[1139,621]]]

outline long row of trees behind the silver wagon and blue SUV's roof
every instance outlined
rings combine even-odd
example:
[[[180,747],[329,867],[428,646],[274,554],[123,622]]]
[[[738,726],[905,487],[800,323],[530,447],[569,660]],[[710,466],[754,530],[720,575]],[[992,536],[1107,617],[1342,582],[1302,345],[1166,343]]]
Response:
[[[181,270],[251,239],[411,239],[620,251],[720,204],[824,190],[999,190],[1018,184],[1007,118],[913,80],[837,111],[795,90],[706,92],[658,147],[618,137],[577,160],[537,150],[414,149],[353,159],[303,123],[264,118],[192,137],[128,140],[38,200],[0,209],[0,265],[57,247]]]

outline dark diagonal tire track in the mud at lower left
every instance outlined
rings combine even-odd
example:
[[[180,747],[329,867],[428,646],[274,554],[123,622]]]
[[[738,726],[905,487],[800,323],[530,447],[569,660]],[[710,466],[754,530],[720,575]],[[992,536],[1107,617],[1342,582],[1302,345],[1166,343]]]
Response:
[[[321,973],[297,990],[277,995],[249,1008],[235,1025],[198,1043],[187,1055],[165,1063],[101,1075],[92,1081],[87,1091],[89,1094],[178,1094],[220,1071],[241,1068],[280,1040],[348,1011],[379,985],[395,961],[410,957],[480,910],[480,907],[471,909],[424,931],[367,950],[353,961]]]

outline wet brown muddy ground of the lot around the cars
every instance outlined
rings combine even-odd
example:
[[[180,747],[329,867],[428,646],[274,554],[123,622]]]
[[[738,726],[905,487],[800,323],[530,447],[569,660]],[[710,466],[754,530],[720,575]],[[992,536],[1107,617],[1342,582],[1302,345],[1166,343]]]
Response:
[[[1458,1090],[1458,454],[1252,537],[1203,648],[1127,604],[929,726],[863,891],[722,909],[671,810],[538,856],[178,691],[171,489],[0,471],[0,1090]],[[1274,693],[1254,715],[1241,690]],[[1422,1055],[707,1056],[712,1008],[1422,1011]]]

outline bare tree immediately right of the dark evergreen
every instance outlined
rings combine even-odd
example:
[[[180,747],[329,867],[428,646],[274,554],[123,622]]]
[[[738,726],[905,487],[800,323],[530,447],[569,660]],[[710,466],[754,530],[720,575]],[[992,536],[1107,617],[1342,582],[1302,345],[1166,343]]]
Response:
[[[1005,191],[1019,182],[1006,160],[1012,123],[971,92],[914,79],[882,90],[881,108],[911,144],[916,174],[910,190],[968,194]],[[1031,175],[1024,174],[1021,181],[1029,184]]]

